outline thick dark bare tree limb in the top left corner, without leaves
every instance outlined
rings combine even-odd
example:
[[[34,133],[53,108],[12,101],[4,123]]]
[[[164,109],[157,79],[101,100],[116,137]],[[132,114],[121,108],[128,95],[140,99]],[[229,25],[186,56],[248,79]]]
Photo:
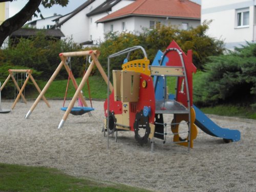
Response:
[[[29,0],[22,10],[2,23],[0,26],[0,47],[6,37],[21,28],[33,16],[41,1],[42,0]]]

